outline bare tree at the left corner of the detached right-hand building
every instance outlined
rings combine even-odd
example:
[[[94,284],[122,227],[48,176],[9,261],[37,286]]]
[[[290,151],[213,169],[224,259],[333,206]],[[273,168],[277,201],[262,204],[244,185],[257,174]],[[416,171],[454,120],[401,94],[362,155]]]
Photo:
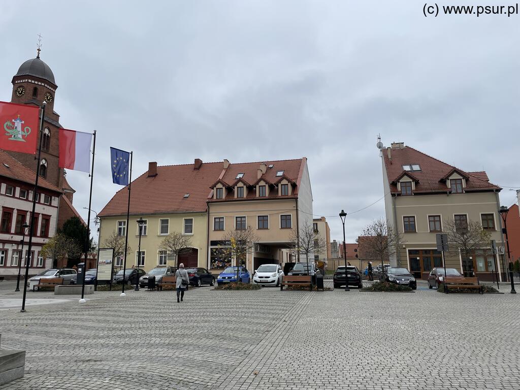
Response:
[[[384,261],[395,256],[402,242],[402,235],[384,218],[374,219],[362,232],[359,240],[359,255],[381,261],[381,279],[385,280]]]

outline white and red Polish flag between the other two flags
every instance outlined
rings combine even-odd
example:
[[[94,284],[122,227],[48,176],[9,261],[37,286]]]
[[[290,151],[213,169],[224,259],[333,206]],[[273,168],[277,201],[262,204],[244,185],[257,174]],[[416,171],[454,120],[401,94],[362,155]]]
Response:
[[[60,128],[60,160],[61,168],[90,173],[91,133],[76,132]]]

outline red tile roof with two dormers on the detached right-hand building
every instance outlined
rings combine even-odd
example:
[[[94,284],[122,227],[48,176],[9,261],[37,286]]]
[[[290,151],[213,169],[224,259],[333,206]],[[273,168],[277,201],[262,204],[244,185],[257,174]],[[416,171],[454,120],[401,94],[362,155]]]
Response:
[[[383,149],[383,159],[386,167],[386,175],[392,193],[399,193],[396,181],[407,173],[418,181],[415,184],[414,193],[447,192],[446,178],[452,172],[458,172],[461,176],[467,176],[465,191],[498,190],[501,188],[489,183],[486,172],[465,172],[457,167],[437,160],[430,155],[405,146],[402,148],[389,148],[391,159],[388,158],[386,149]],[[420,171],[404,171],[403,165],[419,164]]]

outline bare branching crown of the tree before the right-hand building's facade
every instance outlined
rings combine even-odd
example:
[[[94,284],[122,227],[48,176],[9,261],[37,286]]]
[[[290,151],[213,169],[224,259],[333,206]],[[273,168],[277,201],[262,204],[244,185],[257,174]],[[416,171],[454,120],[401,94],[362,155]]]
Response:
[[[462,256],[466,260],[476,249],[490,245],[491,233],[482,229],[482,225],[474,220],[457,223],[452,219],[444,220],[444,230],[448,235],[448,253]]]

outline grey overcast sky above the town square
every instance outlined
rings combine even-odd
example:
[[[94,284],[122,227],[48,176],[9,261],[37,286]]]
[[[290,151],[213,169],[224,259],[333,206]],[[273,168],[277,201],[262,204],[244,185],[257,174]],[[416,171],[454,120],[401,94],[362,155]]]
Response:
[[[448,2],[447,4],[452,4]],[[459,4],[471,4],[460,1]],[[439,3],[439,6],[441,3]],[[159,165],[308,158],[316,216],[383,196],[378,134],[492,183],[520,186],[520,16],[425,18],[408,1],[2,2],[0,100],[36,55],[60,123],[97,130],[92,209],[112,184],[109,147],[134,177]],[[3,81],[2,81],[3,80]],[[87,174],[69,171],[86,219]],[[508,188],[503,205],[515,201]],[[347,217],[347,242],[384,215]]]

